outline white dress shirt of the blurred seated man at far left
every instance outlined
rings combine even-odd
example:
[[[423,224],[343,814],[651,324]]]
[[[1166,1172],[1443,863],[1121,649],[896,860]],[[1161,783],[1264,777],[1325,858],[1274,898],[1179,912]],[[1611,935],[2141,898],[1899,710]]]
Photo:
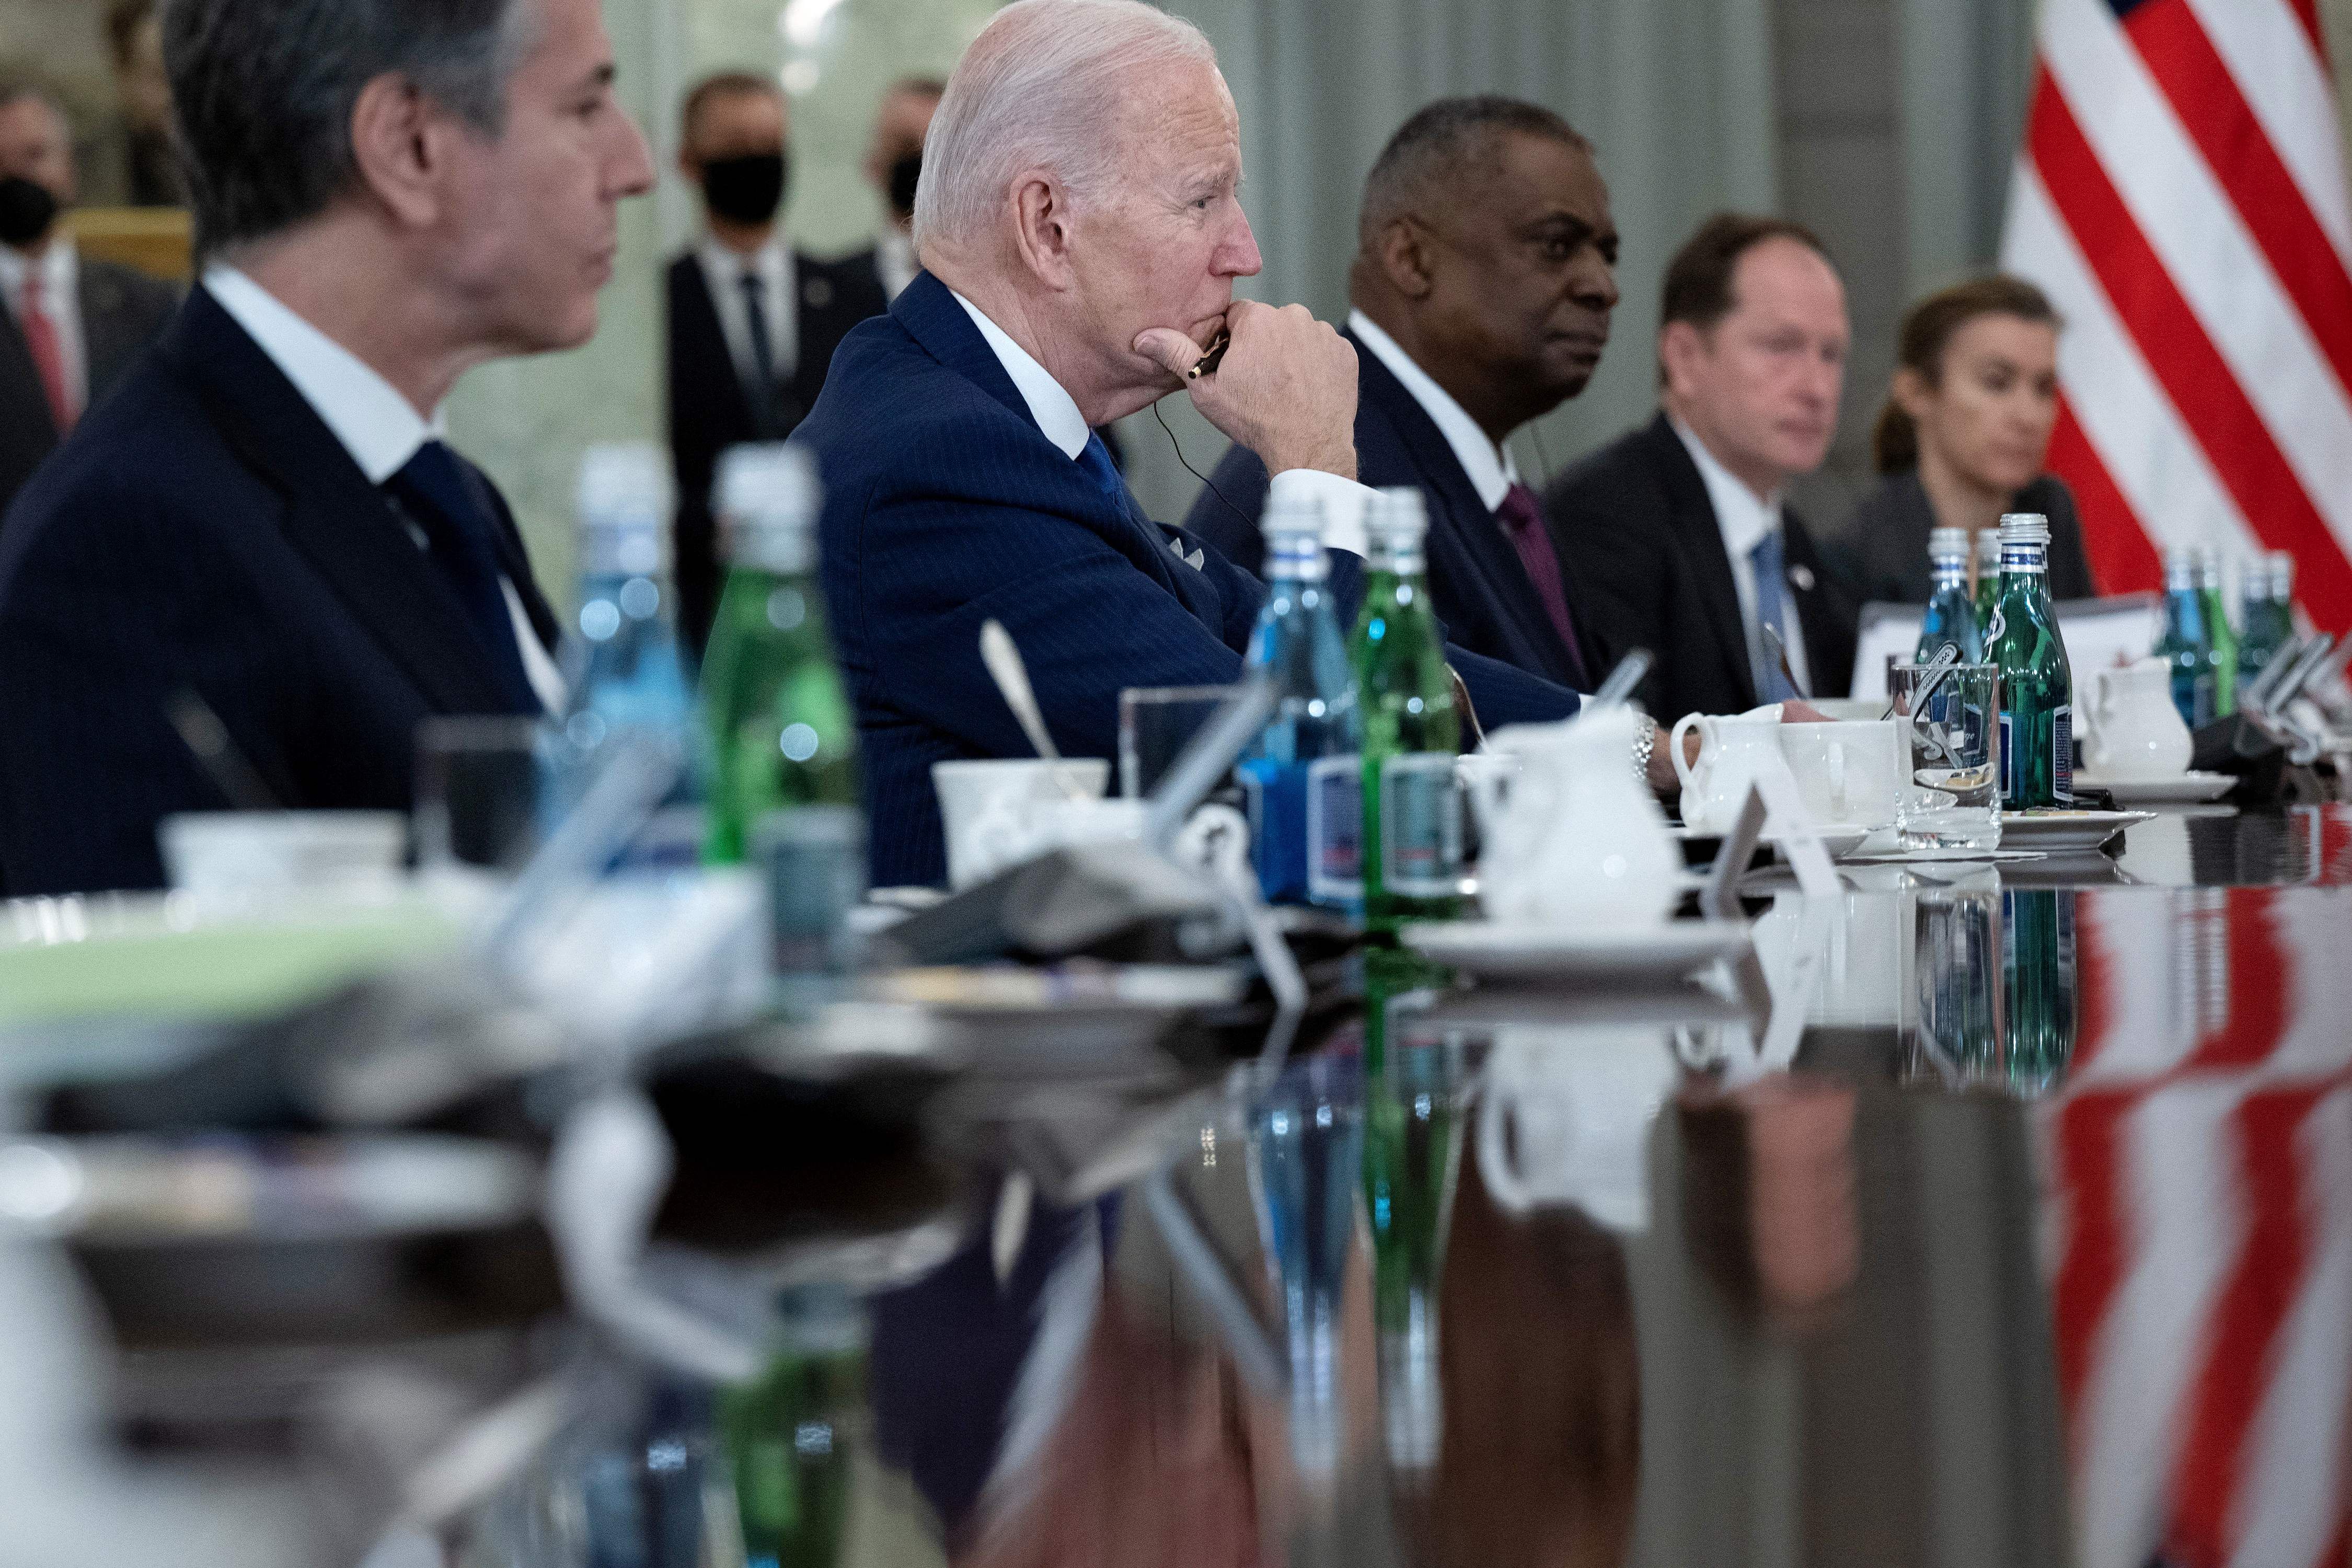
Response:
[[[334,433],[369,484],[383,487],[386,480],[407,468],[419,447],[445,440],[447,423],[440,409],[433,409],[430,421],[423,418],[372,364],[299,317],[238,268],[205,268],[205,292],[285,371],[285,378]],[[426,541],[419,538],[416,545],[426,548]],[[506,614],[515,623],[515,646],[522,651],[522,672],[532,679],[532,691],[550,712],[562,712],[562,672],[539,644],[539,632],[522,609],[522,595],[503,576],[499,588],[506,590]]]

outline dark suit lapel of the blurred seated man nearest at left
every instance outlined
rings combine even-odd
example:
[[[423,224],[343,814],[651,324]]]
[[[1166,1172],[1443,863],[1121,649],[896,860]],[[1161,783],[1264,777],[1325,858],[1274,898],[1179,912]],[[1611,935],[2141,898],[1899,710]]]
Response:
[[[228,447],[285,496],[280,527],[292,545],[426,701],[440,712],[506,712],[456,595],[294,383],[202,287],[162,353],[198,388]]]

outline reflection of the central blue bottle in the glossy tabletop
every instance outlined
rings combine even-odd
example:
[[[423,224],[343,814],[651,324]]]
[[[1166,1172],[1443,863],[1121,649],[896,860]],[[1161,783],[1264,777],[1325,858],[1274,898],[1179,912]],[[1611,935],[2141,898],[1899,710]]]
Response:
[[[1364,1074],[1291,1063],[1249,1107],[1249,1185],[1291,1363],[1291,1458],[1331,1474],[1341,1443],[1341,1295],[1364,1180]]]

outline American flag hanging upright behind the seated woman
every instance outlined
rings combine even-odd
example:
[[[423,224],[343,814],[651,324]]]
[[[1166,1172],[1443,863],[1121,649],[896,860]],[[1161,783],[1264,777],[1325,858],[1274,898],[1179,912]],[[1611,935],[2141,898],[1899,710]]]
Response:
[[[2352,200],[2319,0],[2044,0],[2002,263],[2067,320],[2049,465],[2110,592],[2291,550],[2352,628]]]

